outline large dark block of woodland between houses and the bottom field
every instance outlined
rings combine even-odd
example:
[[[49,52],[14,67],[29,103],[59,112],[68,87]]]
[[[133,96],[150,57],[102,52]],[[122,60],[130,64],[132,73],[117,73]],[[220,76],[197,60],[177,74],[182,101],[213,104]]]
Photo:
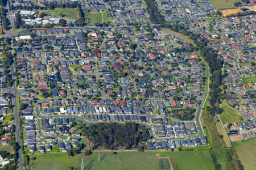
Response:
[[[138,148],[142,142],[150,139],[148,128],[136,123],[97,123],[88,127],[84,126],[81,132],[94,143],[92,149],[97,147],[110,150],[118,147]]]

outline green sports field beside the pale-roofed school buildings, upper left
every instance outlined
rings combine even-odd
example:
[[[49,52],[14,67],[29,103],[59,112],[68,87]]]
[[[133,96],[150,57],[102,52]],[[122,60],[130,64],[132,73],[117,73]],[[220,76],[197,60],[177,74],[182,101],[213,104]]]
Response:
[[[79,19],[77,8],[64,8],[55,10],[40,10],[40,12],[46,12],[51,16],[63,17],[66,19]]]

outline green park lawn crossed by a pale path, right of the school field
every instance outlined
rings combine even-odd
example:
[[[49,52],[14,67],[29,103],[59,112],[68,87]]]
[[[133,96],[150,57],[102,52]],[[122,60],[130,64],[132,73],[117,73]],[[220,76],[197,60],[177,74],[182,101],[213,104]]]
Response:
[[[102,19],[104,22],[109,21],[108,12],[106,11],[103,11],[103,14],[102,13],[91,14],[90,12],[85,12],[84,16],[85,16],[85,22],[88,25],[95,25],[95,23],[102,23]]]

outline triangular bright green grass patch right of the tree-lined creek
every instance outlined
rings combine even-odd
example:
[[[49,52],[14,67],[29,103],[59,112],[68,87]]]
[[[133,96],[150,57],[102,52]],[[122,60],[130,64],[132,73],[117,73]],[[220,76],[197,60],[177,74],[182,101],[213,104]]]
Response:
[[[221,113],[220,118],[223,125],[242,120],[242,116],[237,113],[236,109],[229,107],[226,100],[222,101],[221,108],[223,109],[223,112]]]

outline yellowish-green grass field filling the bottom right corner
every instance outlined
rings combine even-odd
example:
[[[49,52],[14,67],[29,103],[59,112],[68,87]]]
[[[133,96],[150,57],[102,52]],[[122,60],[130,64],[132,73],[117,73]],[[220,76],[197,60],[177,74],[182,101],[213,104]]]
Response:
[[[256,138],[233,142],[233,145],[245,170],[256,169]]]

